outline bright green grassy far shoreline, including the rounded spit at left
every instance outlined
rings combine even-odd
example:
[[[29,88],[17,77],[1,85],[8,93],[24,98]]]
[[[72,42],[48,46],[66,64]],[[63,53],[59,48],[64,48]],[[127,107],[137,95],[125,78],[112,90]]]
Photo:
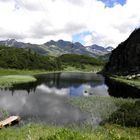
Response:
[[[13,84],[28,83],[36,81],[35,75],[58,73],[58,72],[83,72],[95,73],[101,69],[100,66],[92,68],[92,71],[87,69],[76,69],[75,67],[67,67],[63,71],[46,71],[46,70],[17,70],[17,69],[0,69],[0,87],[11,87]]]

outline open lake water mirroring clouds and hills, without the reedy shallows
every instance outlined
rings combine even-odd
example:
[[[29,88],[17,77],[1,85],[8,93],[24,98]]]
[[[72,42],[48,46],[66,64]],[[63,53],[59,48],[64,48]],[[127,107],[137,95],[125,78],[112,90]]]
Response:
[[[99,74],[63,72],[38,75],[36,78],[37,82],[1,89],[0,108],[10,115],[21,116],[23,121],[71,124],[83,122],[87,114],[70,105],[69,98],[121,95],[117,90],[121,91],[122,85],[106,80]],[[130,89],[130,92],[134,90]],[[139,97],[140,91],[135,92]],[[131,96],[128,93],[124,95]]]

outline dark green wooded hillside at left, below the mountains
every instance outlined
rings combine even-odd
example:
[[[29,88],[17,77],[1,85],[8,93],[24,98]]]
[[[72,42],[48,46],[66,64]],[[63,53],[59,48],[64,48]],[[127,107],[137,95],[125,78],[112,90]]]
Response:
[[[30,49],[0,46],[1,68],[60,70],[58,61],[55,57],[42,56]]]

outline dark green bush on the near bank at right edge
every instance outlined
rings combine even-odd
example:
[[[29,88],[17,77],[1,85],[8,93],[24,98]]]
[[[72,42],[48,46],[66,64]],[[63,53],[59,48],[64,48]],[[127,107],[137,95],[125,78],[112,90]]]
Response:
[[[140,127],[140,100],[135,103],[125,103],[112,113],[107,120],[122,126]]]

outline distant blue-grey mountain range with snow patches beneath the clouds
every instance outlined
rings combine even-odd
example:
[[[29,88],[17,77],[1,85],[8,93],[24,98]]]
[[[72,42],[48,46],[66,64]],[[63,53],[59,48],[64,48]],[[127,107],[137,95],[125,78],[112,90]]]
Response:
[[[92,57],[103,56],[110,53],[113,47],[104,48],[102,46],[93,44],[91,46],[83,46],[79,42],[73,43],[70,41],[58,40],[49,41],[44,44],[31,44],[18,42],[15,39],[8,39],[0,41],[0,45],[16,48],[30,48],[41,55],[60,56],[62,54],[82,54]]]

